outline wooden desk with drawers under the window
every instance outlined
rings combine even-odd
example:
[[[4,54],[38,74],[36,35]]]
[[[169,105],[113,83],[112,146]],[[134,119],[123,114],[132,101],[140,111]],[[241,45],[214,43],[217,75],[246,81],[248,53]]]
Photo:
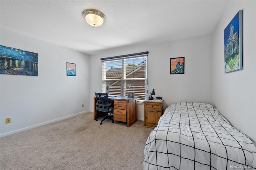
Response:
[[[96,97],[93,98],[93,120],[102,117],[105,113],[96,111]],[[137,97],[128,98],[127,96],[108,97],[114,101],[114,121],[121,121],[127,123],[130,127],[137,121]]]

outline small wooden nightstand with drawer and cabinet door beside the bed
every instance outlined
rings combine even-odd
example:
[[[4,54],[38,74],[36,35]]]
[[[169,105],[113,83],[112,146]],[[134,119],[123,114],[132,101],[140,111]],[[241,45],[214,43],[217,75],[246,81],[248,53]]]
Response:
[[[155,128],[157,126],[159,118],[162,116],[163,113],[163,103],[164,100],[144,101],[144,127]]]

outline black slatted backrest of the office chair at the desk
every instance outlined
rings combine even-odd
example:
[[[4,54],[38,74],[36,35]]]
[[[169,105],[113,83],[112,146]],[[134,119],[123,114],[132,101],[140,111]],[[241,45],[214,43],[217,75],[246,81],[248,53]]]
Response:
[[[108,112],[109,108],[109,100],[108,93],[95,93],[97,103],[96,103],[96,111]]]

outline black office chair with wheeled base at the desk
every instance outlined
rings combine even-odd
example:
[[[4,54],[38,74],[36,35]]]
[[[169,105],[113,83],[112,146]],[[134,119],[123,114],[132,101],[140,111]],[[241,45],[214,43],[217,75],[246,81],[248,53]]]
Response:
[[[110,102],[108,99],[108,93],[95,93],[97,103],[96,103],[96,111],[105,112],[105,117],[100,122],[100,125],[102,125],[102,122],[105,119],[112,120],[112,123],[114,123],[114,119],[108,115],[111,111],[113,111],[113,102]],[[98,121],[98,119],[96,119]]]

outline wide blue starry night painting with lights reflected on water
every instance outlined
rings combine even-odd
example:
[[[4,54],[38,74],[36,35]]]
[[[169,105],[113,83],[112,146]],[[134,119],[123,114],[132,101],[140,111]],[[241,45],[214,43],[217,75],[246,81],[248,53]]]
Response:
[[[0,45],[0,74],[38,76],[38,53]]]

